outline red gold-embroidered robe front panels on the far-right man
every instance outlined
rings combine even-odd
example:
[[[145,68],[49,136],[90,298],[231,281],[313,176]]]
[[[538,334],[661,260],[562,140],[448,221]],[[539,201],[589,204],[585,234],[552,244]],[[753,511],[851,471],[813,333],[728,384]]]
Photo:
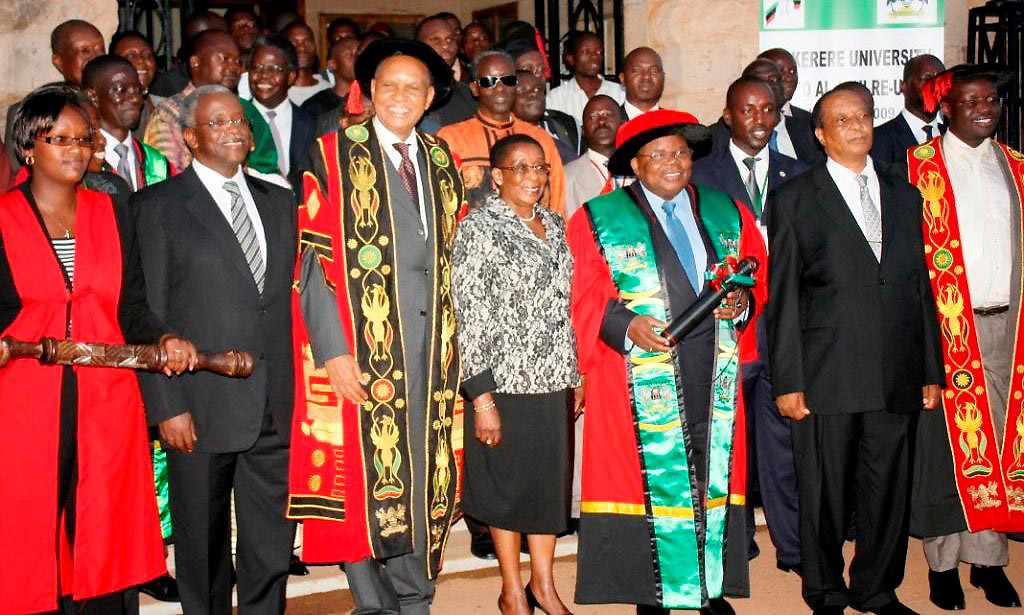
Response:
[[[996,143],[1012,177],[1011,207],[1024,196],[1024,156]],[[961,245],[959,222],[952,182],[942,156],[942,138],[907,151],[910,183],[924,200],[925,255],[928,276],[942,331],[942,359],[949,379],[942,395],[953,473],[961,507],[972,532],[982,529],[1024,531],[1024,301],[1013,340],[1007,420],[1002,442],[995,437],[989,411],[984,358],[968,289],[967,263]],[[1018,222],[1024,213],[1018,213]],[[1024,228],[1018,229],[1024,236]],[[1020,258],[1017,255],[1016,258]],[[1018,289],[1024,280],[1017,280]]]

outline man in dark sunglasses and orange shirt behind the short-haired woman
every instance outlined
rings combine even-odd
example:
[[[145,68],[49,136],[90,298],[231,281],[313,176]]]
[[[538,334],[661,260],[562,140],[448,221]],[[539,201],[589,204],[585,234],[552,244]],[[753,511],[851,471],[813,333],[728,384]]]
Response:
[[[460,173],[470,207],[482,205],[495,189],[490,178],[490,144],[510,134],[526,134],[537,139],[545,160],[551,164],[548,189],[541,203],[564,216],[564,173],[554,139],[544,129],[512,115],[518,82],[512,56],[495,49],[481,51],[473,60],[472,75],[469,87],[480,101],[476,115],[437,132],[461,161]]]

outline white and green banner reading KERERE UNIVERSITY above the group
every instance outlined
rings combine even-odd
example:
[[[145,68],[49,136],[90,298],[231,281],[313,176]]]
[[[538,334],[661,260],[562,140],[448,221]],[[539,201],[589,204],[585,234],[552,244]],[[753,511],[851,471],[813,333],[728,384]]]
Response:
[[[906,60],[942,59],[944,0],[761,0],[761,49],[793,53],[800,84],[793,104],[814,101],[844,81],[874,94],[874,122],[903,108],[899,92]]]

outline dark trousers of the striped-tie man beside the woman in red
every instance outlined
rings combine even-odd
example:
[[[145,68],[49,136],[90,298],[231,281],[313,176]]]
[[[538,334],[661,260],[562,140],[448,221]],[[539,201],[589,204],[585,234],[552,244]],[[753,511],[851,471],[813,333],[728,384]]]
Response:
[[[231,519],[238,523],[239,612],[285,612],[295,524],[285,519],[288,446],[270,413],[249,450],[182,453],[168,448],[174,563],[185,615],[231,613]]]

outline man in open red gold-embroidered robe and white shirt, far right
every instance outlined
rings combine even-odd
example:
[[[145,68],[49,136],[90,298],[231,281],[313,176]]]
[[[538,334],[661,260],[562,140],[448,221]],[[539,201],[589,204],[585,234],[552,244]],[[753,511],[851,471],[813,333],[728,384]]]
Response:
[[[941,411],[918,426],[910,531],[923,538],[931,600],[948,610],[965,607],[961,562],[989,602],[1021,606],[1002,569],[1005,532],[1024,531],[1024,156],[991,138],[1012,80],[992,65],[935,76],[925,104],[941,106],[948,130],[906,153],[947,375]]]

